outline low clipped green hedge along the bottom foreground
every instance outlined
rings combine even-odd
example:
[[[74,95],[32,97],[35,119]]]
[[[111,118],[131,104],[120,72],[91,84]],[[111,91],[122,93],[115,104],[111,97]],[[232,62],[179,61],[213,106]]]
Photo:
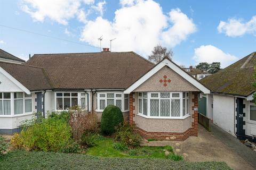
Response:
[[[223,162],[191,163],[171,159],[106,158],[16,150],[0,157],[0,169],[230,169]]]

